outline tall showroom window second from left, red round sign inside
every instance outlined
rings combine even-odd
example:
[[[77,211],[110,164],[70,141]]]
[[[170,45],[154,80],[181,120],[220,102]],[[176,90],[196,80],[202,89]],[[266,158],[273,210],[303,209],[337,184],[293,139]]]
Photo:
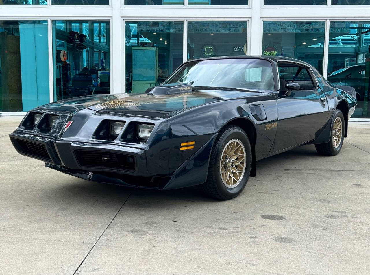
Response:
[[[109,21],[52,22],[54,100],[109,94]]]

